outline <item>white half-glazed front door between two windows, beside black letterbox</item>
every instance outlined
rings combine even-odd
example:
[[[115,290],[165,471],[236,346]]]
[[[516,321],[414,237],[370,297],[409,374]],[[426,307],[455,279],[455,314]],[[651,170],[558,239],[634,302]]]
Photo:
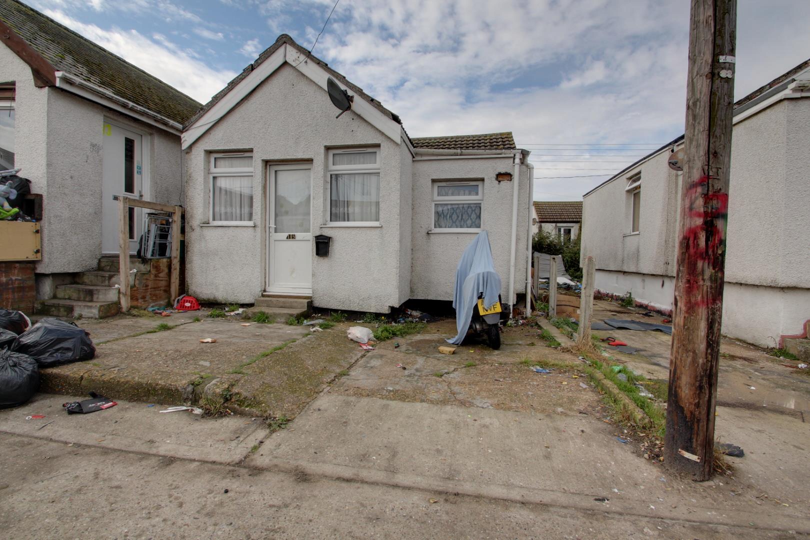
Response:
[[[267,291],[312,294],[312,168],[267,170]]]

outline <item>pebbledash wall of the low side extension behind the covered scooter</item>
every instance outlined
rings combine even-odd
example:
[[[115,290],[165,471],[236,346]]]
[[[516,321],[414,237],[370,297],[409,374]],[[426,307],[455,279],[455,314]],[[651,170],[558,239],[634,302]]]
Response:
[[[456,266],[475,232],[432,232],[433,181],[483,180],[481,227],[489,233],[495,270],[501,276],[501,298],[509,303],[509,242],[512,235],[513,182],[495,180],[498,172],[514,172],[513,155],[470,159],[426,157],[417,151],[413,164],[413,266],[411,298],[453,300]],[[528,168],[520,167],[515,291],[526,292],[528,234]]]

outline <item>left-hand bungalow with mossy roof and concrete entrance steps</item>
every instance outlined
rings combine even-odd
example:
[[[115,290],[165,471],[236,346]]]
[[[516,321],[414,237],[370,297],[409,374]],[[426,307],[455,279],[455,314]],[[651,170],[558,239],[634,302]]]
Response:
[[[181,204],[182,126],[202,105],[16,0],[0,0],[0,40],[0,168],[22,168],[41,202],[40,252],[0,255],[2,307],[118,313],[117,198]],[[144,210],[129,218],[134,254]],[[134,265],[134,305],[169,300],[166,264]]]

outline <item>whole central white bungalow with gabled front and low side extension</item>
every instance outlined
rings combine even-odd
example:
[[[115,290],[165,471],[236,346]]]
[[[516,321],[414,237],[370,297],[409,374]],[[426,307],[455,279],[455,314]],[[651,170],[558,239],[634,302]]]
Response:
[[[327,79],[346,91],[340,112]],[[279,36],[185,125],[191,295],[284,313],[452,300],[489,232],[505,304],[526,291],[531,164],[511,133],[411,138],[398,115]],[[326,248],[328,246],[328,253]]]

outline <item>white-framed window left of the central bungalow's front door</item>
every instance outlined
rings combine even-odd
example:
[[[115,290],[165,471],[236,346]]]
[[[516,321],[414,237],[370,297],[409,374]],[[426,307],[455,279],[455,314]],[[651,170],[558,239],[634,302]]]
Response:
[[[253,223],[253,154],[211,153],[211,223]]]

